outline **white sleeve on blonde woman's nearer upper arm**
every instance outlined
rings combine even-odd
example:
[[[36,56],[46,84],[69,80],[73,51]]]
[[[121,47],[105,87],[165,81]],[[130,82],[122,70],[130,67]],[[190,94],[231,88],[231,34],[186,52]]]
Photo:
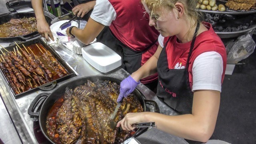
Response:
[[[196,57],[193,67],[193,86],[195,90],[217,90],[221,92],[223,60],[218,52],[204,52]]]

